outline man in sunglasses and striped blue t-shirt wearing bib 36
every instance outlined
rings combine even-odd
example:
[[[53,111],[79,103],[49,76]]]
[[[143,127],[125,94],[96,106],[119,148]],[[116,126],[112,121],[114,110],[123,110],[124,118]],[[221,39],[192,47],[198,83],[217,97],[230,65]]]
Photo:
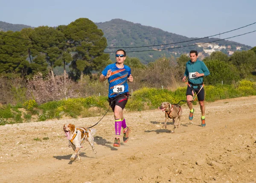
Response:
[[[129,98],[128,83],[133,81],[131,68],[124,65],[126,52],[123,49],[116,51],[116,63],[109,64],[99,76],[99,81],[108,79],[108,102],[114,112],[116,137],[114,147],[120,147],[121,128],[123,128],[123,141],[127,142],[131,127],[126,126],[123,109]]]

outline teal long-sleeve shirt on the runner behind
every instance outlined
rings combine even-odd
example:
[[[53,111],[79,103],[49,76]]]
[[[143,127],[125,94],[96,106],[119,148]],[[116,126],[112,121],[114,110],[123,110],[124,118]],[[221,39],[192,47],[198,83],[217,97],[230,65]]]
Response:
[[[186,63],[186,70],[184,76],[189,76],[189,82],[193,84],[203,83],[203,76],[196,77],[195,72],[198,72],[200,74],[204,73],[204,76],[208,76],[210,74],[208,68],[206,67],[203,61],[197,60],[195,62],[192,62],[191,60],[189,60]]]

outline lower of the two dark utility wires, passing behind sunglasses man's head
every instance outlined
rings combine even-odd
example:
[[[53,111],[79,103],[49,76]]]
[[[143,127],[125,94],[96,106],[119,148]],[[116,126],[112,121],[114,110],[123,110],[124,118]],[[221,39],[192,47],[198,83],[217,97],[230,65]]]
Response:
[[[126,51],[126,52],[149,52],[149,51],[159,51],[159,50],[165,50],[165,49],[183,48],[183,47],[188,47],[188,46],[196,46],[196,45],[200,45],[200,44],[213,43],[213,42],[222,41],[222,40],[225,40],[225,39],[235,38],[235,37],[250,34],[250,33],[253,33],[253,32],[256,32],[256,30],[251,31],[251,32],[246,32],[246,33],[240,34],[240,35],[235,35],[235,36],[232,36],[232,37],[229,37],[229,38],[218,39],[218,40],[215,40],[215,41],[209,41],[209,42],[205,42],[205,43],[192,44],[192,45],[186,45],[186,46],[178,46],[178,47],[173,47],[173,48],[150,49],[150,50],[141,50],[141,51]],[[37,50],[47,50],[47,51],[55,51],[55,52],[70,52],[70,51],[61,50],[61,49],[41,49],[41,48],[31,48],[31,47],[28,47],[28,46],[19,46],[19,45],[14,45],[14,44],[5,44],[5,43],[0,43],[0,44],[1,45],[8,45],[8,46],[15,46],[15,47],[29,48],[29,49],[37,49]],[[79,51],[79,52],[82,52],[82,51]],[[84,52],[84,53],[87,53],[87,52]],[[98,53],[98,52],[90,52],[90,53]],[[115,52],[103,52],[103,53],[115,53]]]

